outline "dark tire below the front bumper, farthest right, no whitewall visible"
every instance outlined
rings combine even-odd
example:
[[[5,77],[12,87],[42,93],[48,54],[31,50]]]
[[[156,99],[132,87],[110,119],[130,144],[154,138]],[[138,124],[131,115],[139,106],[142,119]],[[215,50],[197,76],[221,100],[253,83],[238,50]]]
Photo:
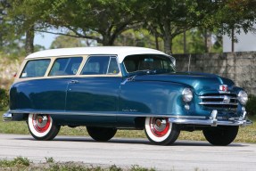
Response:
[[[204,137],[212,145],[225,146],[235,140],[239,126],[207,127],[202,130]]]

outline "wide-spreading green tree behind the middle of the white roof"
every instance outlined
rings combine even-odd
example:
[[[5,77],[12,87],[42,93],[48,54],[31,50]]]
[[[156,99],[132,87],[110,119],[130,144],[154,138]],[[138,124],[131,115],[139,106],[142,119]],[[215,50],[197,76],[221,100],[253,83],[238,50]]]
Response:
[[[70,37],[96,40],[102,45],[113,45],[125,30],[135,28],[139,21],[133,10],[139,1],[132,0],[55,0],[45,12],[45,21],[56,33]],[[48,19],[47,19],[48,17]],[[70,35],[70,31],[75,35]]]

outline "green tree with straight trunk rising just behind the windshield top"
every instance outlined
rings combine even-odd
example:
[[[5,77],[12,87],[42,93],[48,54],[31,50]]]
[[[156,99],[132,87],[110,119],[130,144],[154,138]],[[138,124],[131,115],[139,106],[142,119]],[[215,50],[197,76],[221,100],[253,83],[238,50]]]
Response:
[[[204,2],[204,1],[203,1]],[[200,25],[202,5],[196,0],[150,0],[145,9],[146,28],[164,41],[164,52],[171,53],[172,39],[190,28]],[[204,11],[207,8],[204,6]]]

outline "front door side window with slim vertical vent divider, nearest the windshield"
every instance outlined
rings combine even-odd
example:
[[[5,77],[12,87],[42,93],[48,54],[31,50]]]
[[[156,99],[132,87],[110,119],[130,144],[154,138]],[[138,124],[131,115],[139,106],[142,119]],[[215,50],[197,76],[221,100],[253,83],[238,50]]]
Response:
[[[117,60],[111,56],[91,56],[82,70],[82,75],[118,74]]]

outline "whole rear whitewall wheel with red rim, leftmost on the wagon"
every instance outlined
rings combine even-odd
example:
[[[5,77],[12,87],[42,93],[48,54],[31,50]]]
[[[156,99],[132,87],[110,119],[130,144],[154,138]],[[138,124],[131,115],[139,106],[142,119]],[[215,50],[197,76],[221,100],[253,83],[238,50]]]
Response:
[[[36,140],[53,140],[60,127],[54,123],[50,115],[29,114],[28,126],[30,134]]]

